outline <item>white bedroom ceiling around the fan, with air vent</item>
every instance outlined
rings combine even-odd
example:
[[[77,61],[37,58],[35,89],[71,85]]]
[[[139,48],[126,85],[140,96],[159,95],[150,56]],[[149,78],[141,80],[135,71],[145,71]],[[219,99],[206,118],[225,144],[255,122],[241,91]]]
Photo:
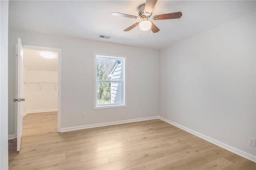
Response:
[[[123,30],[138,19],[112,16],[120,12],[138,16],[145,0],[13,1],[9,2],[9,28],[59,36],[122,43],[161,49],[221,24],[255,12],[255,1],[158,0],[153,15],[181,11],[180,19],[153,21],[160,32],[141,32],[138,27]],[[110,39],[99,38],[99,35]]]

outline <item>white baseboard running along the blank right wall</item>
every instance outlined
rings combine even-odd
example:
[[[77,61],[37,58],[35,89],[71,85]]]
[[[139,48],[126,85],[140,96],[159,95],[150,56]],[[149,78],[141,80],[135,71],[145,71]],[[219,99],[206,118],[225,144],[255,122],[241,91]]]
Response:
[[[202,138],[202,139],[204,139],[204,140],[207,140],[208,142],[211,142],[211,143],[213,143],[213,144],[216,144],[217,146],[220,146],[220,147],[222,147],[222,148],[224,148],[224,149],[226,149],[226,150],[229,150],[230,152],[233,152],[233,153],[235,153],[235,154],[238,154],[238,155],[240,155],[240,156],[242,156],[242,157],[244,157],[244,158],[246,158],[246,159],[248,159],[248,160],[251,160],[251,161],[253,161],[253,162],[256,162],[256,156],[254,156],[254,155],[252,155],[252,154],[249,154],[249,153],[247,153],[247,152],[244,152],[244,151],[242,151],[242,150],[240,150],[240,149],[238,149],[238,148],[234,148],[233,146],[230,146],[230,145],[228,145],[228,144],[222,143],[222,142],[220,142],[220,141],[218,141],[218,140],[215,140],[215,139],[213,139],[213,138],[210,138],[209,136],[206,136],[206,135],[204,135],[204,134],[201,134],[201,133],[199,133],[199,132],[196,132],[196,131],[194,131],[194,130],[192,130],[192,129],[190,129],[190,128],[184,127],[184,126],[182,126],[182,125],[179,125],[178,123],[172,122],[172,121],[170,121],[170,120],[168,120],[168,119],[165,119],[165,118],[163,118],[163,117],[159,117],[159,119],[161,119],[162,121],[165,121],[165,122],[167,122],[167,123],[169,123],[169,124],[171,124],[171,125],[174,125],[174,126],[180,128],[180,129],[182,129],[182,130],[185,130],[185,131],[187,131],[187,132],[189,132],[189,133],[191,133],[191,134],[194,134],[195,136],[198,136],[198,137],[200,137],[200,138]]]

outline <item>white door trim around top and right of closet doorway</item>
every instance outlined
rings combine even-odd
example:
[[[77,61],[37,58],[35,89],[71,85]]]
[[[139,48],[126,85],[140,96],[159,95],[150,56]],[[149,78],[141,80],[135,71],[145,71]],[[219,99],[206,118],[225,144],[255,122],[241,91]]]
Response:
[[[61,49],[60,48],[53,48],[53,47],[36,46],[36,45],[22,45],[22,48],[23,49],[36,49],[36,50],[43,50],[43,51],[56,51],[56,52],[58,52],[58,128],[57,128],[57,132],[60,132],[60,115],[61,115]],[[16,93],[17,93],[17,91],[16,91]],[[15,136],[17,136],[16,129],[17,129],[17,127],[15,127]]]

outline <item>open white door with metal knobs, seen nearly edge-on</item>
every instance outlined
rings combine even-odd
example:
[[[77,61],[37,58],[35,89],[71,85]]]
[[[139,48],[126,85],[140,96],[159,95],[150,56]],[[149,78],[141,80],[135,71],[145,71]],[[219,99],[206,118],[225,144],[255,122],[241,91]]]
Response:
[[[22,101],[25,99],[22,98],[22,85],[23,85],[23,49],[20,38],[18,38],[18,108],[17,108],[17,151],[20,151],[21,135],[22,135]]]

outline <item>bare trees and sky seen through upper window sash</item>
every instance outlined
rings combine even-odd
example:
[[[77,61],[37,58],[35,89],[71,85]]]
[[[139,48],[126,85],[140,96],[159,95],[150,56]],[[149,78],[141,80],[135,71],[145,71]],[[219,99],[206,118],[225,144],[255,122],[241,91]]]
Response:
[[[113,58],[96,57],[97,80],[110,80],[110,74],[112,69],[116,67],[117,62],[117,59]]]

